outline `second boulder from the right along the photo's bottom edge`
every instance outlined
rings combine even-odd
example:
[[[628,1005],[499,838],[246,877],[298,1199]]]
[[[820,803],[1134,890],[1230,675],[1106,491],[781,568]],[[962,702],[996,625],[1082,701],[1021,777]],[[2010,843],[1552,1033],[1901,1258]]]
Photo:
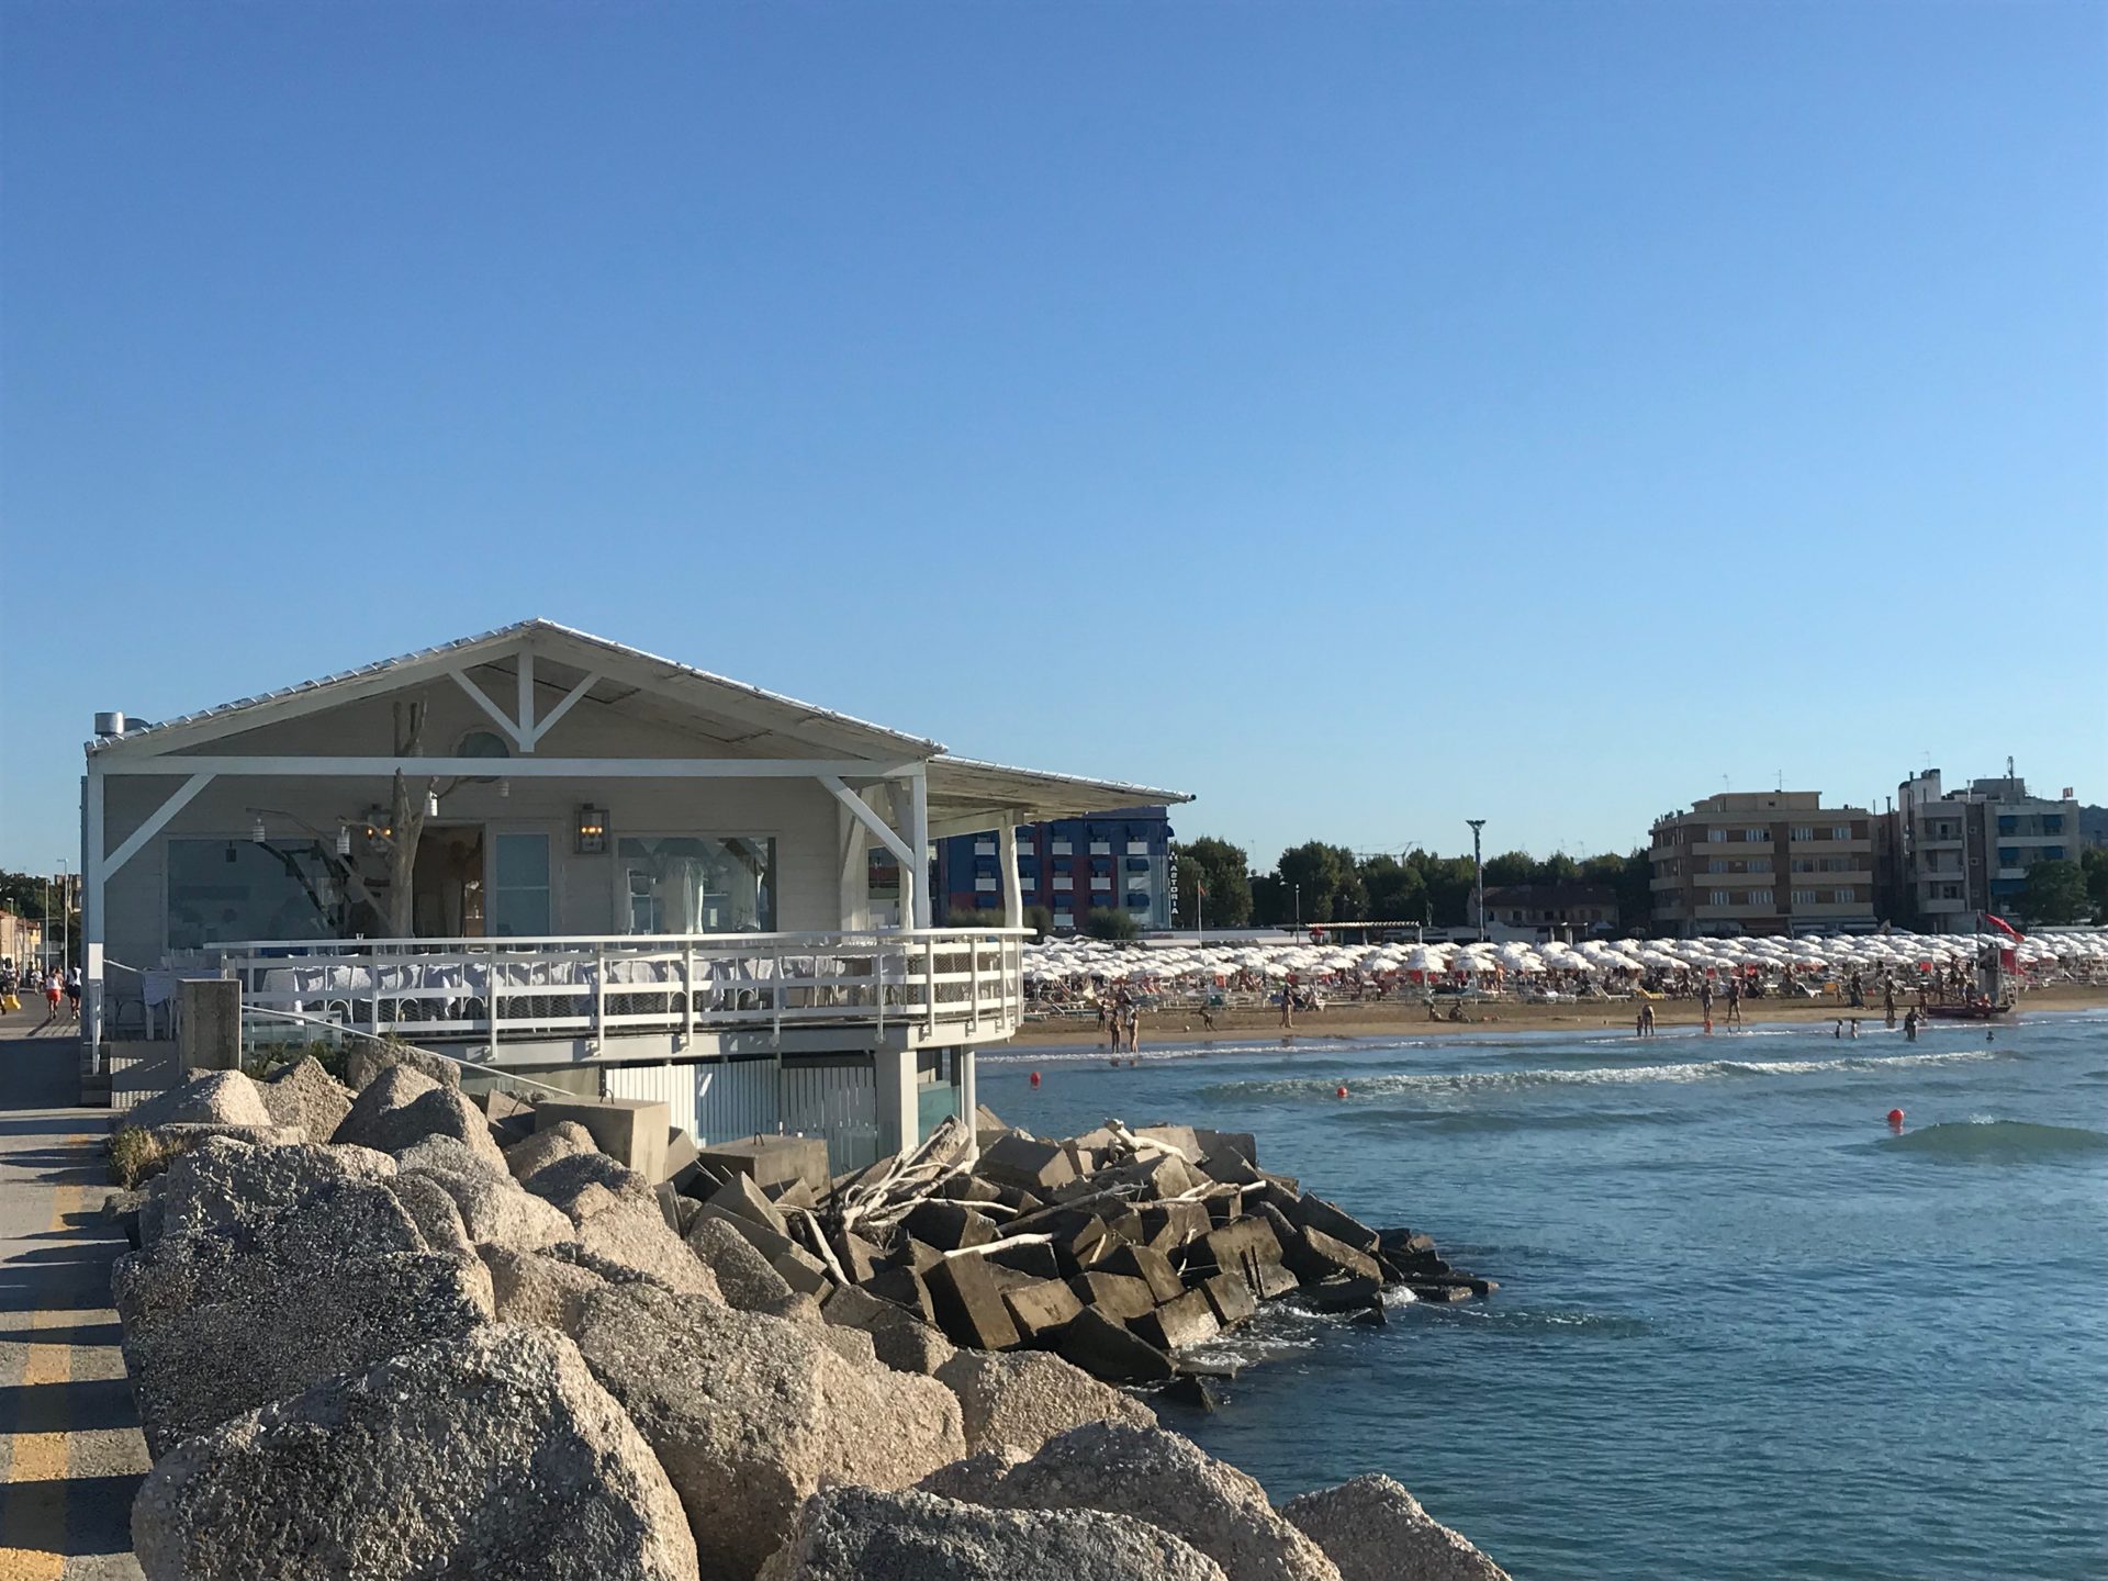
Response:
[[[1105,1509],[1187,1539],[1229,1581],[1341,1581],[1339,1568],[1267,1503],[1267,1490],[1178,1433],[1128,1423],[1073,1427],[1029,1461],[976,1455],[923,1490],[997,1509]]]

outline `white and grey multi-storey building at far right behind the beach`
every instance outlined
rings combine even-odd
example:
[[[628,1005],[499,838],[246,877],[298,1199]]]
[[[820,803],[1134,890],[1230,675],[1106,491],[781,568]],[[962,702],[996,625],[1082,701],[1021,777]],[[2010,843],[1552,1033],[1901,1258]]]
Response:
[[[2072,790],[2032,797],[2015,774],[1941,786],[1939,769],[1895,788],[1887,852],[1904,919],[1929,934],[1967,934],[1979,911],[2011,915],[2036,862],[2076,860]]]

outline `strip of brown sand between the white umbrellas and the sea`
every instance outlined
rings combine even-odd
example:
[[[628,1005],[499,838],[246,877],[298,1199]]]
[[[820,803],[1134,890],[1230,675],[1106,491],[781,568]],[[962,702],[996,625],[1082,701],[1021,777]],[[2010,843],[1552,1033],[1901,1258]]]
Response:
[[[1655,1027],[1697,1027],[1703,1020],[1697,999],[1655,999]],[[1897,1018],[1914,1003],[1914,997],[1899,997]],[[2022,999],[2017,1014],[2041,1010],[2095,1010],[2108,1006],[2108,987],[2087,987],[2060,982],[2034,989]],[[1638,1001],[1617,999],[1611,1003],[1501,1003],[1465,1001],[1471,1020],[1427,1020],[1427,1006],[1417,999],[1336,1003],[1324,1010],[1299,1012],[1294,1039],[1318,1041],[1328,1037],[1431,1037],[1438,1033],[1484,1033],[1490,1027],[1509,1031],[1575,1031],[1598,1027],[1632,1029]],[[1442,1003],[1448,1014],[1448,1001]],[[1859,1016],[1880,1022],[1880,1001],[1870,1010],[1849,1010],[1838,999],[1754,999],[1743,1003],[1743,1024],[1779,1022],[1828,1022],[1838,1016]],[[1726,1010],[1714,1003],[1714,1027],[1722,1027]],[[1191,1010],[1168,1010],[1143,1014],[1140,1046],[1206,1046],[1206,1043],[1250,1043],[1258,1037],[1284,1037],[1282,1012],[1277,1006],[1265,1010],[1218,1010],[1214,1031],[1202,1027]],[[1031,1020],[1008,1048],[1105,1048],[1107,1035],[1094,1020]]]

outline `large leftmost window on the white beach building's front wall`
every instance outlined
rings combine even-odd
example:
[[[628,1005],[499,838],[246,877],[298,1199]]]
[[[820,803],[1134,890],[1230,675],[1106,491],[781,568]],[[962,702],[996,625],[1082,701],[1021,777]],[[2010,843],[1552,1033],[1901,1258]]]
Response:
[[[379,913],[348,898],[344,877],[318,839],[171,839],[169,949],[379,934]]]

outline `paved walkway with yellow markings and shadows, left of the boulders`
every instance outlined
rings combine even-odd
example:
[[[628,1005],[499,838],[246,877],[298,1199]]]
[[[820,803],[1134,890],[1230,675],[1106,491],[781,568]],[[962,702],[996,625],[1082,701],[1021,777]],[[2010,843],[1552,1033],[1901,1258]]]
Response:
[[[0,1018],[0,1581],[126,1581],[145,1440],[124,1383],[103,1227],[108,1109],[80,1109],[76,1037]]]

